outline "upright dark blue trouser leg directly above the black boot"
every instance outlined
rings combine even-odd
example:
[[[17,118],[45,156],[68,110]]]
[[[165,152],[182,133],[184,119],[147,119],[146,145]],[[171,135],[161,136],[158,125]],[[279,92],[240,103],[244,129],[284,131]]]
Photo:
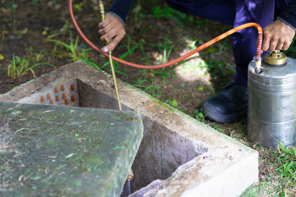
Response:
[[[258,23],[262,28],[274,20],[275,0],[237,0],[234,27],[249,22]],[[248,27],[233,34],[233,54],[236,64],[234,81],[247,86],[247,66],[255,55],[258,31]],[[265,53],[261,56],[264,57]]]

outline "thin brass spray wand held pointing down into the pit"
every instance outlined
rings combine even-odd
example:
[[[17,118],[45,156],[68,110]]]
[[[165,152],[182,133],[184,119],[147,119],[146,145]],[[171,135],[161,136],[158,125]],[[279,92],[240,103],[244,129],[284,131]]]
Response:
[[[103,1],[98,0],[98,4],[99,4],[99,10],[100,10],[100,14],[101,14],[101,22],[103,22],[105,20],[105,9],[104,9]],[[111,42],[111,40],[107,40],[107,38],[106,38],[106,45],[108,45]],[[119,110],[122,110],[121,103],[120,103],[120,97],[119,97],[119,91],[118,91],[117,82],[116,82],[115,70],[114,70],[113,60],[112,60],[112,49],[110,51],[108,51],[107,53],[109,55],[109,61],[110,61],[110,66],[111,66],[111,71],[112,71],[112,76],[113,76],[113,82],[114,82],[114,87],[115,87],[115,94],[116,94],[116,98],[117,98],[118,108],[119,108]]]

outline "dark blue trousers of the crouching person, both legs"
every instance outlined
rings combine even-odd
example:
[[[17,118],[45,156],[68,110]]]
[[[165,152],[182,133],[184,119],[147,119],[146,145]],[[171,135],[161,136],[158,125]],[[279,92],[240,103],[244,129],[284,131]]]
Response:
[[[234,25],[234,27],[256,22],[264,28],[274,20],[275,3],[283,8],[291,0],[166,1],[169,6],[181,12]],[[233,54],[237,64],[234,81],[244,86],[247,86],[247,66],[256,53],[257,36],[258,31],[255,27],[248,27],[233,34]],[[264,54],[262,54],[263,57]]]

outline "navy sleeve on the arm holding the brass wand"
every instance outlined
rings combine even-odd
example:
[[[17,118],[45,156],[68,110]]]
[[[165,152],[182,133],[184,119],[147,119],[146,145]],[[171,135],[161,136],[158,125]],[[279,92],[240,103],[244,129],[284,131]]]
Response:
[[[131,4],[133,0],[114,0],[112,6],[106,13],[111,13],[121,19],[123,24],[126,22],[126,16],[128,15],[128,11],[131,8]]]

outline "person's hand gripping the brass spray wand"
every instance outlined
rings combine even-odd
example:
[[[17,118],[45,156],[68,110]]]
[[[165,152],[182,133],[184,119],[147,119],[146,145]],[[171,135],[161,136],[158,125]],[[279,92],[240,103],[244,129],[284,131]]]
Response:
[[[104,52],[110,51],[118,45],[119,41],[126,34],[122,21],[113,14],[107,13],[105,20],[99,23],[99,35],[103,42],[113,39],[110,44],[104,46],[101,50]]]

